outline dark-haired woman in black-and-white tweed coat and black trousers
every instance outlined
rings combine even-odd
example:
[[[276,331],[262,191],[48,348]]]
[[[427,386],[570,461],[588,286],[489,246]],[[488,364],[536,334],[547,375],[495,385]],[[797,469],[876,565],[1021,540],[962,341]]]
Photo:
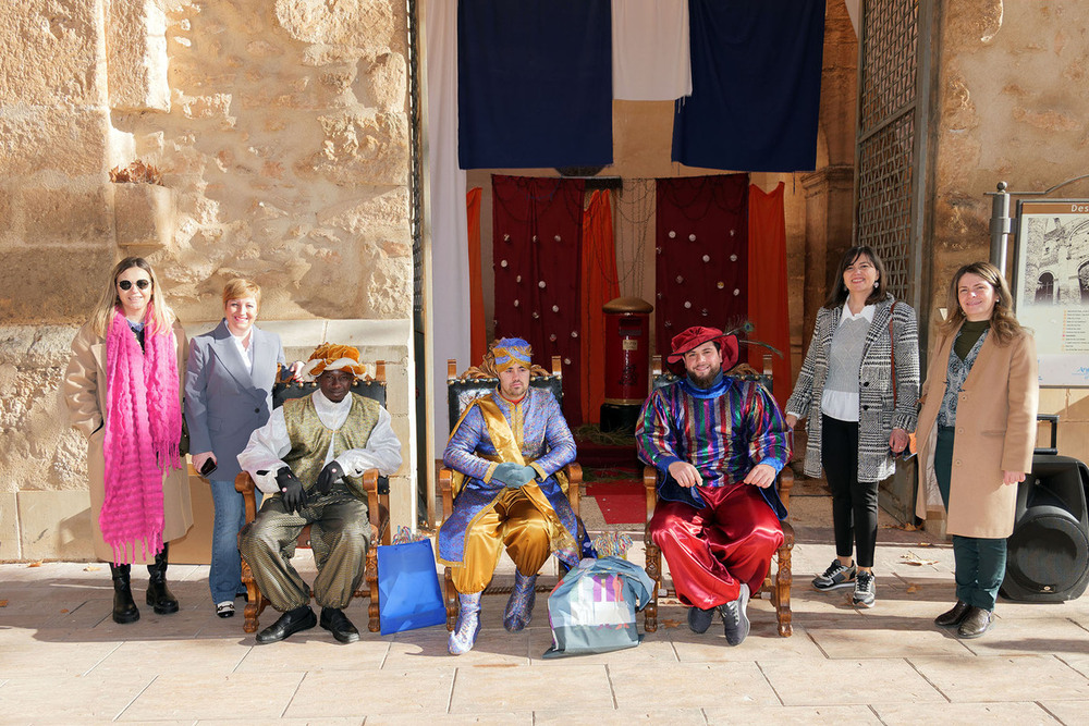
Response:
[[[878,484],[896,470],[895,457],[915,430],[918,394],[915,310],[885,291],[873,250],[852,247],[817,313],[786,424],[808,417],[805,472],[819,477],[823,467],[832,490],[836,558],[813,587],[854,586],[852,602],[860,607],[876,602]]]

